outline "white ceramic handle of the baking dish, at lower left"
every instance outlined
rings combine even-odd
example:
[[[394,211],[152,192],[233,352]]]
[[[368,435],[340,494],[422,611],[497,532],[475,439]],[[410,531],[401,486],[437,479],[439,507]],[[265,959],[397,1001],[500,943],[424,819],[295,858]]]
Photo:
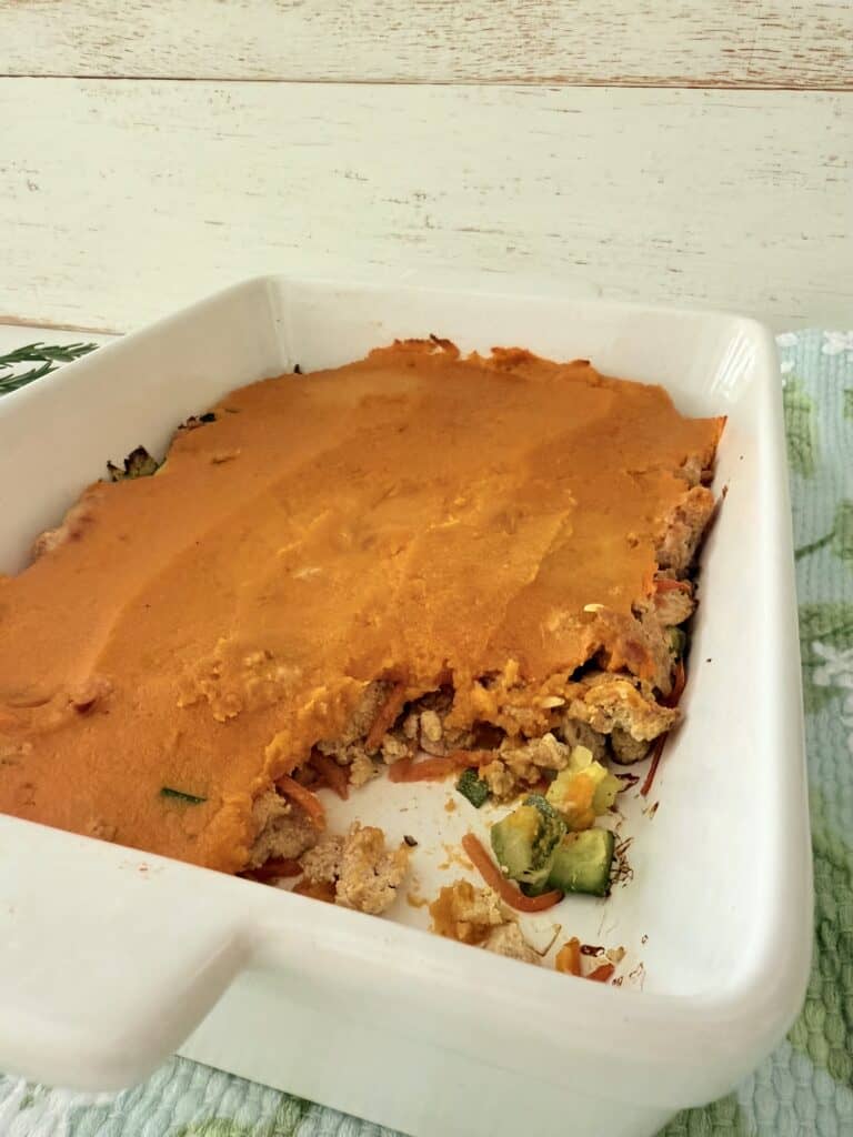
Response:
[[[117,1090],[169,1057],[249,954],[205,875],[0,816],[0,1069]]]

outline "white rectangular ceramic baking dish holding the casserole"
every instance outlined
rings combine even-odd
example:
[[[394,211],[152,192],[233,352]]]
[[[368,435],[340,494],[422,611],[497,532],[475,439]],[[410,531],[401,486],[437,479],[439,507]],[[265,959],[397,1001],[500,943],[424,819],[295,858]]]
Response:
[[[688,413],[728,415],[718,487],[729,492],[704,554],[687,723],[662,763],[656,815],[629,810],[635,879],[606,902],[569,898],[533,928],[541,939],[556,920],[563,937],[624,945],[632,978],[604,987],[428,936],[406,927],[425,913],[403,898],[379,920],[3,816],[1,1069],[109,1089],[181,1047],[423,1137],[647,1135],[727,1092],[790,1023],[811,861],[778,373],[757,324],[250,281],[0,401],[0,570],[25,564],[107,457],[162,450],[230,388],[430,332],[465,349],[588,357],[662,382]],[[382,780],[349,803],[419,837],[425,896],[463,872],[440,868],[441,843],[472,811],[447,813],[447,797]]]

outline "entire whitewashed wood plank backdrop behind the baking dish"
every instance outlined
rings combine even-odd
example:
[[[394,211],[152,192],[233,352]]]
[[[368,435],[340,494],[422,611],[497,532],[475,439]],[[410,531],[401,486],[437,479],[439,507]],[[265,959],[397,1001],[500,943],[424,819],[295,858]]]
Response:
[[[291,271],[846,327],[852,166],[850,0],[0,0],[0,323]]]

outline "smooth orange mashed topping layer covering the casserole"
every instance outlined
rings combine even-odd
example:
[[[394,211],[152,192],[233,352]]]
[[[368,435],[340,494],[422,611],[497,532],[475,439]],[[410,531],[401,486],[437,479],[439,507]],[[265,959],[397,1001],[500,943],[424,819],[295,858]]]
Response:
[[[0,578],[0,810],[233,872],[258,802],[368,691],[374,749],[439,690],[445,730],[517,747],[573,703],[629,741],[664,729],[631,733],[601,677],[620,707],[669,691],[654,582],[707,521],[720,421],[586,362],[446,341],[213,409]]]

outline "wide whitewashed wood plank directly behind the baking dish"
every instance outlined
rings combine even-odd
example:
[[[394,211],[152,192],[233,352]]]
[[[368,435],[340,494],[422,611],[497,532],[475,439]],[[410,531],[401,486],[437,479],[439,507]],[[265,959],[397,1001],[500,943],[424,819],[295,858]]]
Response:
[[[17,78],[0,122],[0,317],[121,331],[271,271],[853,308],[853,96]]]

